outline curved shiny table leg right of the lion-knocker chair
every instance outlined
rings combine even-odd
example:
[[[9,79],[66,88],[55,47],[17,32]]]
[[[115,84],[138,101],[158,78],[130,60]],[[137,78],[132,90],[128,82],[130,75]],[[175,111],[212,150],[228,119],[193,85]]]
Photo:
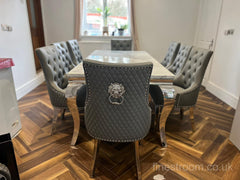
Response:
[[[160,140],[161,140],[162,147],[167,147],[165,126],[166,126],[167,118],[173,109],[174,103],[175,103],[175,99],[164,98],[164,105],[163,105],[162,113],[160,116],[160,122],[159,122],[159,132],[160,132]]]

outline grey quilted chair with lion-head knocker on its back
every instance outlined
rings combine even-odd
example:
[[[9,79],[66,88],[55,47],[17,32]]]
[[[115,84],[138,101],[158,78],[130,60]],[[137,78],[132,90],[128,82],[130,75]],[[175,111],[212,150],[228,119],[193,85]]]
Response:
[[[135,65],[83,61],[87,84],[85,125],[94,140],[94,160],[100,140],[135,142],[138,179],[141,179],[139,140],[149,132],[151,109],[148,106],[152,63]]]

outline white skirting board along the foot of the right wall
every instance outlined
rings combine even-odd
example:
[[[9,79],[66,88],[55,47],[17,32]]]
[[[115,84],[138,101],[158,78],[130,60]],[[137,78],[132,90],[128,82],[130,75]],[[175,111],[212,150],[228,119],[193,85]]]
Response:
[[[219,99],[236,109],[238,104],[238,98],[236,96],[217,86],[213,82],[204,81],[203,86],[205,86],[210,93],[217,96]]]

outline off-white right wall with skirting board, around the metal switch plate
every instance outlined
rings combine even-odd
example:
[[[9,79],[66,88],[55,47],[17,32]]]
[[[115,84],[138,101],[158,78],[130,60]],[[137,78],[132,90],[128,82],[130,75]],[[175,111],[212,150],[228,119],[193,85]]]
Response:
[[[224,0],[207,89],[236,108],[240,95],[240,1]],[[226,29],[234,29],[226,36]]]

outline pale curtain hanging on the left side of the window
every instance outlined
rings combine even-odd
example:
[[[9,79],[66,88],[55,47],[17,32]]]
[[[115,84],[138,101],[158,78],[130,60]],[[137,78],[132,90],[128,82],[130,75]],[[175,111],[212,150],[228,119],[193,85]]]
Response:
[[[74,27],[74,39],[79,40],[81,36],[81,23],[83,15],[83,0],[75,0],[75,27]]]

